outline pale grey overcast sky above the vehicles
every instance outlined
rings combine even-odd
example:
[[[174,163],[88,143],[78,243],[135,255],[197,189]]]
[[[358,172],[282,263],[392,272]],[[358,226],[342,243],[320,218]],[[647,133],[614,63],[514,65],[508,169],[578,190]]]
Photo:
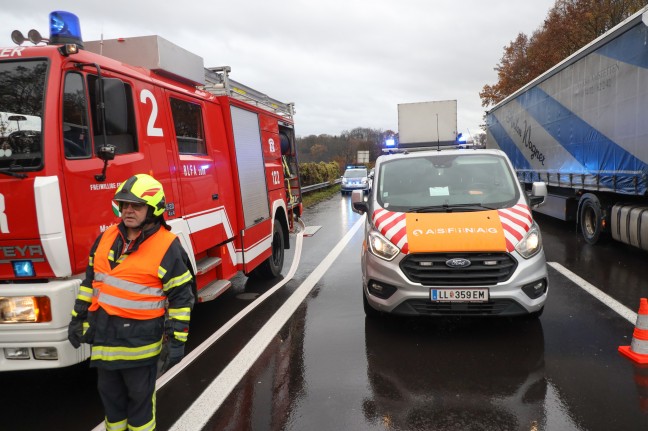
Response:
[[[297,135],[398,129],[399,103],[457,100],[458,131],[478,132],[479,92],[520,32],[555,0],[20,0],[0,9],[11,31],[48,37],[52,10],[76,14],[84,40],[156,34],[231,66],[231,78],[294,102]],[[29,42],[27,42],[29,44]]]

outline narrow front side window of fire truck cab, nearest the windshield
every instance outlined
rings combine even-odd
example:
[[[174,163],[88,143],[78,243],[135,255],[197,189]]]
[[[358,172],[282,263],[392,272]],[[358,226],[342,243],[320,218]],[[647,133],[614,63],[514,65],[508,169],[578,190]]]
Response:
[[[80,73],[65,75],[63,89],[63,148],[68,159],[92,156],[88,103],[85,85]]]

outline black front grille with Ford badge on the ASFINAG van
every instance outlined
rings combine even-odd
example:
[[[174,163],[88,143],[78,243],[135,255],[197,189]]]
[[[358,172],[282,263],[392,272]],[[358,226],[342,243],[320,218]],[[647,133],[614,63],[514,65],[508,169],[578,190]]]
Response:
[[[446,262],[463,258],[466,268],[451,268]],[[517,261],[507,253],[416,253],[405,257],[400,268],[414,283],[424,286],[489,286],[508,280]]]

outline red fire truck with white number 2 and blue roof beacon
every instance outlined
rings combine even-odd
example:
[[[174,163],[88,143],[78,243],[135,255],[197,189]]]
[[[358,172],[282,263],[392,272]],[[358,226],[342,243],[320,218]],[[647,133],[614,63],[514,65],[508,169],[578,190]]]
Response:
[[[198,301],[240,271],[279,275],[302,212],[292,104],[159,36],[83,42],[74,15],[50,24],[0,48],[0,371],[87,358],[70,311],[131,175],[164,186]]]

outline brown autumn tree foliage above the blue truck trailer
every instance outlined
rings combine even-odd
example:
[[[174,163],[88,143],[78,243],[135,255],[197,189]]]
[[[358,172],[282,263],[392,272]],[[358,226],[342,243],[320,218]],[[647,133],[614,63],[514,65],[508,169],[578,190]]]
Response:
[[[531,37],[520,33],[484,85],[482,106],[494,105],[645,6],[645,0],[556,0]]]

